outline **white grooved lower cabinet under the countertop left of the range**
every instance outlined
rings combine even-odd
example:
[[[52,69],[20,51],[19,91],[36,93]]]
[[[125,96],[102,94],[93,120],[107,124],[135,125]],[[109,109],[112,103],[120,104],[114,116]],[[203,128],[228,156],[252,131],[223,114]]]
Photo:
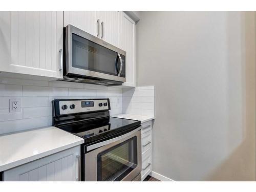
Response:
[[[79,178],[80,145],[4,172],[4,181],[78,181]]]

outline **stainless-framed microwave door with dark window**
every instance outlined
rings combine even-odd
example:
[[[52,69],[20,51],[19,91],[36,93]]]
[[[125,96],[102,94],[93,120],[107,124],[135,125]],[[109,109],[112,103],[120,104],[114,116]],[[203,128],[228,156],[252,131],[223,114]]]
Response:
[[[117,58],[119,58],[118,50],[120,51],[120,49],[106,43],[100,45],[101,39],[74,26],[67,27],[66,37],[68,74],[120,81],[123,71],[118,76],[120,66],[117,63]],[[105,47],[106,45],[113,48],[109,49]]]

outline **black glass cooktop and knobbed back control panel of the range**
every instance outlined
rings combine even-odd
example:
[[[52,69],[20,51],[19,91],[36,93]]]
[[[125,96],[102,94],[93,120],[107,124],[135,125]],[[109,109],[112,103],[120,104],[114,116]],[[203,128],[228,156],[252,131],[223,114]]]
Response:
[[[131,131],[140,121],[110,117],[109,99],[56,99],[52,101],[53,126],[94,143]]]

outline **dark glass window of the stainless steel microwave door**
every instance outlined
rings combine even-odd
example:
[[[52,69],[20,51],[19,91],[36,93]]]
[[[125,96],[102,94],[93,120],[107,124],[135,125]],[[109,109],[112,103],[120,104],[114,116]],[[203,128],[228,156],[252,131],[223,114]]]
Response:
[[[120,61],[115,51],[72,34],[72,67],[117,76]]]

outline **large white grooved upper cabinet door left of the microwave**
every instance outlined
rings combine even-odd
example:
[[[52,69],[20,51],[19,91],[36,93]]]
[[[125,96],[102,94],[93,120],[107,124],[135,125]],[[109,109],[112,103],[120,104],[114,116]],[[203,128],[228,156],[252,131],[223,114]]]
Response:
[[[1,11],[0,34],[1,72],[62,78],[63,12]]]

